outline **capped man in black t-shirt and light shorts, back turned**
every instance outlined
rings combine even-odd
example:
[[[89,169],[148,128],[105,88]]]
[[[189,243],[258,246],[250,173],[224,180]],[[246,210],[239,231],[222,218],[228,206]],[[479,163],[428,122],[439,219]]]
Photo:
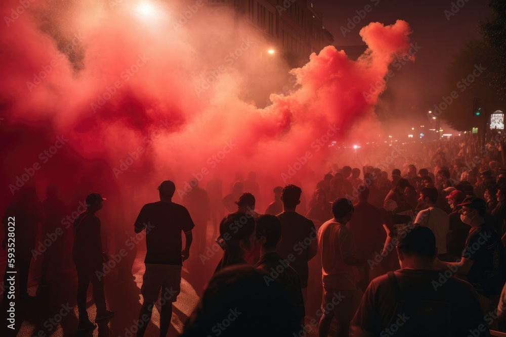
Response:
[[[176,185],[164,180],[158,186],[160,201],[142,207],[134,227],[140,233],[146,229],[146,271],[142,278],[141,294],[144,299],[139,312],[137,337],[142,337],[160,290],[160,337],[167,335],[171,326],[172,303],[181,292],[181,268],[190,256],[192,229],[195,227],[188,210],[174,203],[172,197]],[[182,250],[181,232],[185,233],[185,249]],[[147,321],[146,321],[147,320]]]

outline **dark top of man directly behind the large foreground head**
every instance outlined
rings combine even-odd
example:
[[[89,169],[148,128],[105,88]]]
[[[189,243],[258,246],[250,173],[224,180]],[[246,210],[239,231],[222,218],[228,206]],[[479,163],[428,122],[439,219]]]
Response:
[[[293,304],[297,307],[299,318],[302,319],[305,315],[304,298],[302,296],[301,278],[299,274],[290,267],[287,261],[282,261],[282,257],[276,253],[264,254],[260,260],[255,264],[255,267],[264,269],[270,274],[270,277],[264,277],[266,282],[278,281],[290,296]]]

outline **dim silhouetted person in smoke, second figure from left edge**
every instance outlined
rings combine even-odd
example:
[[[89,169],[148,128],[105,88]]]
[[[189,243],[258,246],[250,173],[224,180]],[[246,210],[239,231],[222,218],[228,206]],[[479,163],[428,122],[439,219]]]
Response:
[[[43,202],[46,220],[42,223],[42,239],[44,240],[49,237],[52,240],[52,244],[46,248],[46,252],[43,254],[40,286],[48,285],[47,274],[51,262],[53,262],[55,274],[59,275],[61,272],[61,260],[65,238],[67,237],[67,231],[61,228],[61,221],[67,214],[67,208],[65,203],[60,199],[58,192],[57,185],[49,185],[46,189],[46,200]],[[53,240],[51,236],[56,237],[56,239]]]

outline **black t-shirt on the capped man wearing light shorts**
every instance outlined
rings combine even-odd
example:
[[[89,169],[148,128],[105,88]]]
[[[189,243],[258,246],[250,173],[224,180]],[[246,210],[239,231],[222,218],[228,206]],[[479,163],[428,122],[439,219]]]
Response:
[[[144,263],[183,265],[181,232],[195,226],[188,210],[175,203],[158,201],[142,207],[134,225],[146,228],[146,258]]]

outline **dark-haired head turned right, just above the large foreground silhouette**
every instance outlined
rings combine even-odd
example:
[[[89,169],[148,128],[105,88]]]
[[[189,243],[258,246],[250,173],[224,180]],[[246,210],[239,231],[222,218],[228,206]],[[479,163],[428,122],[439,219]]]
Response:
[[[228,214],[220,222],[220,237],[225,251],[230,255],[242,257],[255,246],[255,219],[245,212]]]

